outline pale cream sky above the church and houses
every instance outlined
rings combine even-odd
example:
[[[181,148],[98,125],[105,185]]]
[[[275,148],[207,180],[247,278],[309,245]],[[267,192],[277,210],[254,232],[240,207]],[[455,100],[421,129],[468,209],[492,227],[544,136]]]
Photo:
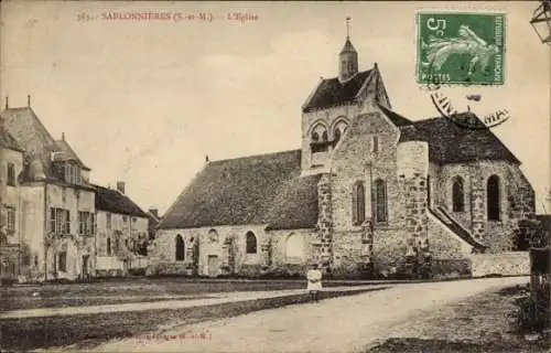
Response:
[[[349,15],[359,68],[378,63],[393,110],[439,113],[415,82],[417,11],[506,13],[503,86],[443,87],[478,115],[507,109],[493,131],[522,161],[538,212],[550,185],[550,46],[529,24],[537,2],[6,2],[0,95],[31,106],[54,138],[142,208],[164,212],[205,165],[300,147],[301,105],[337,75]],[[105,20],[114,13],[171,20]],[[209,13],[213,21],[184,20]],[[245,22],[229,20],[248,14]],[[182,15],[182,17],[180,17]],[[182,19],[174,21],[174,18]],[[463,100],[462,100],[463,99]],[[461,107],[460,107],[461,108]]]

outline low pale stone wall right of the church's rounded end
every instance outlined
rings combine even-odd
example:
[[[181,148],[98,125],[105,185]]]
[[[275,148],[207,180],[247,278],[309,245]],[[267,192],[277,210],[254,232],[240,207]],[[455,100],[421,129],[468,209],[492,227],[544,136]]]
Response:
[[[530,255],[528,252],[472,254],[471,261],[473,277],[530,275]]]

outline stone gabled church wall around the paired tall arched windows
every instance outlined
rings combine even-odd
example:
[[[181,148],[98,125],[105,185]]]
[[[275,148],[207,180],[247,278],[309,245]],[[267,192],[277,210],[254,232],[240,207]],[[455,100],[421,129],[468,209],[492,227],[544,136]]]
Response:
[[[400,202],[396,163],[398,133],[380,111],[374,110],[356,117],[335,151],[331,181],[334,220],[332,272],[336,276],[358,275],[363,264],[372,260],[370,253],[377,253],[378,236],[383,233],[387,236],[385,229],[398,229],[402,222],[404,210]],[[378,137],[378,151],[374,151],[374,136]],[[387,186],[387,222],[375,224],[372,237],[366,237],[366,225],[353,223],[353,186],[357,181],[364,182],[366,221],[371,222],[371,185],[377,179],[383,180]],[[390,233],[396,234],[393,231]],[[366,238],[372,244],[368,244]]]

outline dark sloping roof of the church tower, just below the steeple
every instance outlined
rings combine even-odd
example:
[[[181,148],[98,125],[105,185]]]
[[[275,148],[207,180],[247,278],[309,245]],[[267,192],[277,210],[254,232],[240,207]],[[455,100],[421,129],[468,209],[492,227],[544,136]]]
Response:
[[[303,111],[333,107],[353,101],[372,69],[357,73],[353,78],[341,83],[338,77],[323,79],[313,96],[303,107]]]

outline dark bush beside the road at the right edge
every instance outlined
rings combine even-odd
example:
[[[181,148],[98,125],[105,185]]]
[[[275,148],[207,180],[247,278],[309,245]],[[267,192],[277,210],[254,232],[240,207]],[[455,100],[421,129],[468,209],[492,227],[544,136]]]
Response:
[[[530,292],[517,300],[517,330],[520,333],[541,333],[549,330],[550,298],[549,282],[544,282],[536,292]]]

